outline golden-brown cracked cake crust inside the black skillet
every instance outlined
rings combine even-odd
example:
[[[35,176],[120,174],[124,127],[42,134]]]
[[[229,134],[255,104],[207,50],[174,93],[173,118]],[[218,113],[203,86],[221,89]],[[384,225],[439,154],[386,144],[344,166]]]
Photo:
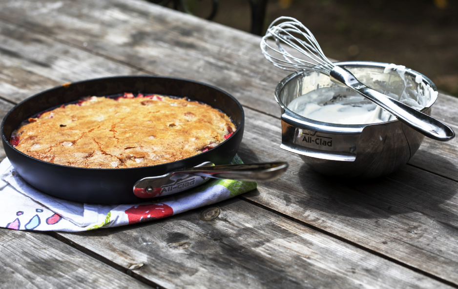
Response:
[[[81,168],[134,168],[187,158],[235,131],[229,117],[185,98],[105,98],[61,106],[13,133],[16,149]]]

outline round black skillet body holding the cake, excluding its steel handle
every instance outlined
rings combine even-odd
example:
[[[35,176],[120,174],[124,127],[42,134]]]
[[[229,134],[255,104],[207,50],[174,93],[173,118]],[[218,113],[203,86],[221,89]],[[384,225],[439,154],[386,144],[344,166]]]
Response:
[[[227,114],[237,130],[226,141],[205,153],[171,163],[130,169],[56,165],[23,154],[9,143],[11,133],[22,121],[42,111],[84,96],[110,96],[124,92],[188,97],[207,103]],[[133,193],[134,184],[142,178],[194,167],[207,161],[216,165],[229,163],[242,141],[244,119],[243,108],[233,96],[201,82],[157,76],[106,77],[67,83],[25,99],[3,119],[1,136],[5,153],[15,170],[38,190],[76,202],[127,204],[147,200]]]

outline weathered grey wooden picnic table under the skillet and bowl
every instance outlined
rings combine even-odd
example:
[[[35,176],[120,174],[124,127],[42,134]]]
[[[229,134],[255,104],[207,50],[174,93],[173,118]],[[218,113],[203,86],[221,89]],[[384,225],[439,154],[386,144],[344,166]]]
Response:
[[[66,82],[183,77],[243,104],[245,162],[290,168],[162,220],[81,233],[1,229],[0,288],[458,288],[458,138],[425,139],[407,165],[373,181],[315,173],[279,148],[273,91],[286,72],[259,42],[141,0],[1,1],[2,116]],[[439,94],[433,116],[458,132],[458,99]]]

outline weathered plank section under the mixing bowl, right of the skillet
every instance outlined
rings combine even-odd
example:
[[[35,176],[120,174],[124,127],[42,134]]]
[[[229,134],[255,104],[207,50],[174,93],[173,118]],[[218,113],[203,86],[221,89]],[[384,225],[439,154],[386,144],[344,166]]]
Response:
[[[458,284],[457,182],[408,165],[373,181],[335,181],[278,147],[279,120],[246,114],[241,157],[290,168],[242,198]]]

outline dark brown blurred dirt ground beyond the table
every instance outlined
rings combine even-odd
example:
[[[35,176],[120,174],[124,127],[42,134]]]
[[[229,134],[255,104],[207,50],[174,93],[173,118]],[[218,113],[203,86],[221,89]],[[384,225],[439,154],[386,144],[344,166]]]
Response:
[[[210,0],[187,3],[197,16],[209,11]],[[269,0],[266,14],[265,28],[300,20],[329,58],[405,65],[458,96],[457,0]],[[249,1],[219,0],[213,21],[250,31]]]

